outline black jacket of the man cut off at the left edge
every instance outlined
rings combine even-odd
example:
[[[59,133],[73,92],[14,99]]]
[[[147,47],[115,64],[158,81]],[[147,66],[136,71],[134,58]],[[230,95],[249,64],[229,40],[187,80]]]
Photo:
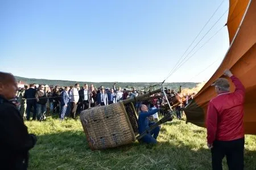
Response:
[[[28,150],[36,137],[28,134],[16,106],[0,96],[0,169],[27,169]]]

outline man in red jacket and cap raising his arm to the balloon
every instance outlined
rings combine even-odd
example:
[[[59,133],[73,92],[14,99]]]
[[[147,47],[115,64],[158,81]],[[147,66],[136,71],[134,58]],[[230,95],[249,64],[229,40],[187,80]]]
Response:
[[[213,169],[222,169],[224,156],[229,169],[243,169],[245,87],[230,70],[225,70],[224,75],[232,79],[236,90],[229,92],[229,82],[225,78],[219,78],[212,84],[218,96],[208,105],[207,145],[212,152]]]

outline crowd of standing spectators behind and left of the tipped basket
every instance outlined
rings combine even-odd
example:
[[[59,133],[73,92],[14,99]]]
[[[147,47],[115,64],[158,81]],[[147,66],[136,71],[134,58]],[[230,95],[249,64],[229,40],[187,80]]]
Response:
[[[116,88],[115,84],[112,88],[104,88],[103,86],[94,88],[93,84],[76,83],[74,86],[54,88],[45,87],[40,84],[36,88],[36,84],[24,85],[16,92],[16,102],[20,114],[25,120],[46,120],[46,113],[58,114],[60,120],[65,117],[76,118],[81,111],[100,105],[109,105],[125,100],[129,97],[138,96],[135,88],[128,91]]]

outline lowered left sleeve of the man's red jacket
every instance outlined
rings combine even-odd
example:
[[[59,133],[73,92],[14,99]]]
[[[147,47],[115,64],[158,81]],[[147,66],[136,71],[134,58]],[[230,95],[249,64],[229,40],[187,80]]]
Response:
[[[210,101],[207,110],[207,142],[212,144],[216,138],[218,112]]]

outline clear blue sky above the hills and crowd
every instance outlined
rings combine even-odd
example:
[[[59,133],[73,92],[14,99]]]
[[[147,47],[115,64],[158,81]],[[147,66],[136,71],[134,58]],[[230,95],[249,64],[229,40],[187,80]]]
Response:
[[[221,2],[3,0],[0,71],[27,78],[162,82]],[[225,0],[195,43],[228,5]],[[228,12],[195,50],[226,23],[227,16]],[[228,47],[225,27],[167,82],[208,80]]]

